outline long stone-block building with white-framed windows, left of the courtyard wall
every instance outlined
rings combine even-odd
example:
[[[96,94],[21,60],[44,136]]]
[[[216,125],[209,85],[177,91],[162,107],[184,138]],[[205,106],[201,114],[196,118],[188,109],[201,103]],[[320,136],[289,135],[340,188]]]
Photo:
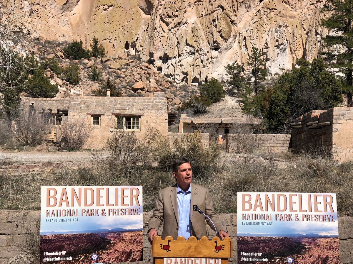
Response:
[[[168,133],[167,101],[163,92],[154,97],[97,97],[71,96],[70,98],[23,98],[22,108],[32,107],[48,116],[54,131],[61,122],[86,120],[93,130],[86,148],[100,149],[115,128],[124,128],[143,137],[147,128]],[[56,128],[56,129],[55,129]],[[52,133],[55,139],[55,132]]]

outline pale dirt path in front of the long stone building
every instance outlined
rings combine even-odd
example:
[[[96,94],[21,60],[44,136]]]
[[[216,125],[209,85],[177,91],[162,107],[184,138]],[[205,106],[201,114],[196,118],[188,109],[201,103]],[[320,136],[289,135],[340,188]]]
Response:
[[[103,153],[105,156],[106,153]],[[70,161],[89,161],[92,156],[91,151],[22,151],[22,152],[6,152],[0,151],[0,161],[6,163],[51,163],[51,162],[70,162]]]

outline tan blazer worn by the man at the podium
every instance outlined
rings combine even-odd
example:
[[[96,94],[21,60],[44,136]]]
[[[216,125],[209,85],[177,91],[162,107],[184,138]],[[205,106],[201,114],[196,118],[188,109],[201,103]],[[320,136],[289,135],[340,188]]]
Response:
[[[205,216],[194,211],[193,205],[197,205],[214,222],[217,232],[226,230],[222,226],[217,214],[213,209],[211,196],[207,188],[191,183],[191,203],[190,203],[190,222],[191,235],[201,238],[207,237]],[[178,202],[177,184],[164,188],[158,192],[156,209],[148,222],[148,230],[158,228],[163,224],[162,238],[171,235],[174,239],[178,237]],[[213,225],[207,220],[207,224],[212,228]]]

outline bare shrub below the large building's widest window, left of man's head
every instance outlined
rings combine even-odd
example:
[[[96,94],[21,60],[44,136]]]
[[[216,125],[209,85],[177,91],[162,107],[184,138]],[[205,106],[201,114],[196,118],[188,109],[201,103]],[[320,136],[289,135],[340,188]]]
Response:
[[[103,150],[108,151],[108,157],[102,158],[100,153],[94,153],[97,164],[106,168],[108,174],[115,177],[127,175],[139,167],[151,165],[150,157],[153,152],[152,143],[156,132],[148,128],[142,137],[137,137],[134,131],[117,129],[108,138]]]

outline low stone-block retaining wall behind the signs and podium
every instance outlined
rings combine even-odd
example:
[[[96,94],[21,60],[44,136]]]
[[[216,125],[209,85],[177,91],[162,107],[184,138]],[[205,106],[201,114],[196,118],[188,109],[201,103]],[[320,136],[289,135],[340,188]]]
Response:
[[[143,214],[143,263],[152,263],[151,246],[146,235],[148,220],[152,212]],[[237,214],[219,214],[226,231],[233,238],[233,258],[230,264],[237,264]],[[40,211],[0,210],[0,264],[8,260],[33,243],[34,234],[38,230]],[[340,235],[340,262],[353,263],[353,218],[339,217],[338,227]],[[209,238],[214,232],[208,227]],[[161,233],[162,227],[160,228]]]

